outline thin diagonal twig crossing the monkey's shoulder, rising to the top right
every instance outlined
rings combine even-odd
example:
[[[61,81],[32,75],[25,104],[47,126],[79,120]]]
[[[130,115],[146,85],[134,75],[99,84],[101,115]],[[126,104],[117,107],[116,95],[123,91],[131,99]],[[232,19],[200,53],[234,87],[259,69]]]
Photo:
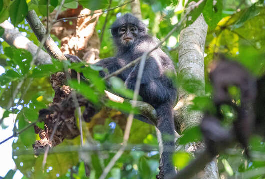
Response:
[[[172,28],[172,30],[165,36],[165,38],[158,43],[153,49],[151,49],[148,53],[147,56],[150,55],[154,50],[156,50],[157,48],[159,48],[180,26],[181,24],[184,22],[184,20],[187,19],[187,16],[194,10],[195,7],[198,7],[204,0],[200,0],[199,2],[197,2],[196,4],[192,5],[191,7],[189,7],[188,12],[181,18],[181,20]],[[142,55],[143,56],[143,55]],[[142,56],[138,57],[137,59],[133,60],[132,62],[128,63],[127,65],[123,66],[122,68],[120,68],[119,70],[109,74],[108,76],[106,76],[105,78],[103,78],[103,80],[107,80],[112,76],[117,76],[118,74],[120,74],[122,71],[128,69],[129,67],[134,66],[135,64],[137,64]]]

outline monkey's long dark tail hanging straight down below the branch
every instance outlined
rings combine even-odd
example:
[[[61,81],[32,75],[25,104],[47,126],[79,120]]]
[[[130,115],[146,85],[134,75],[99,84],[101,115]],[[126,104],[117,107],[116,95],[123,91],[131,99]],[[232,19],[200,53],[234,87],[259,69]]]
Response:
[[[163,153],[160,158],[160,173],[164,179],[171,178],[175,173],[175,167],[172,164],[172,155],[175,152],[174,143],[174,119],[172,104],[164,103],[156,108],[158,115],[157,128],[161,132],[163,142]]]

